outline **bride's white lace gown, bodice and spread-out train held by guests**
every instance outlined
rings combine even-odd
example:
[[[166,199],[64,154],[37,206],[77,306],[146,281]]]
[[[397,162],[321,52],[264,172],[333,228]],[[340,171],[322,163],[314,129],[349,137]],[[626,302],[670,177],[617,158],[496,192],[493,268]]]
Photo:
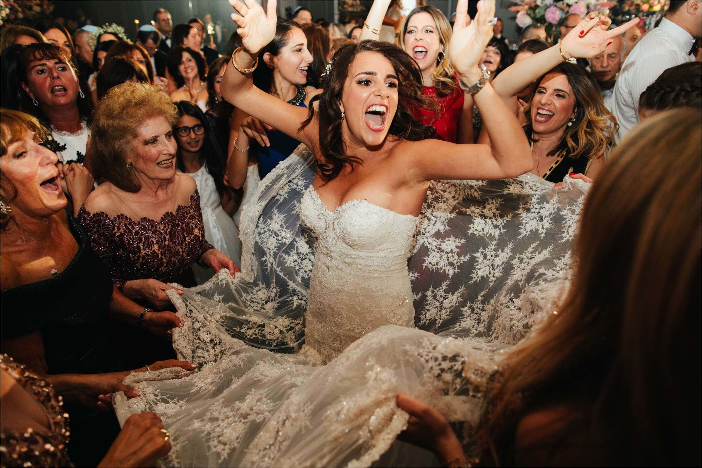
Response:
[[[169,294],[187,321],[173,347],[197,372],[132,374],[140,396],[115,396],[122,423],[162,417],[162,464],[435,463],[395,441],[398,392],[439,409],[478,455],[484,383],[567,288],[579,180],[432,182],[413,218],[365,201],[331,213],[313,177],[301,146],[244,209],[237,278]]]

